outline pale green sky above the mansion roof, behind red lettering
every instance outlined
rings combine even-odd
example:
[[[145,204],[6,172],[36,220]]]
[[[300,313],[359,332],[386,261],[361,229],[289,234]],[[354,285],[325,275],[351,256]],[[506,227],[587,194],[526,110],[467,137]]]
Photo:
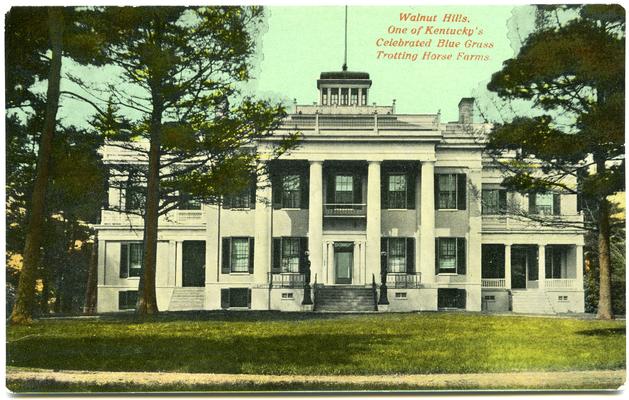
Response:
[[[502,62],[513,57],[514,50],[509,40],[509,36],[513,35],[509,35],[508,29],[512,10],[511,6],[350,6],[349,70],[370,73],[373,81],[370,103],[389,105],[396,99],[399,113],[436,113],[441,110],[442,120],[455,120],[459,100],[472,96],[474,91],[485,86]],[[316,79],[319,73],[340,70],[343,64],[344,7],[272,6],[267,12],[268,31],[261,36],[258,45],[261,54],[258,78],[252,82],[251,89],[258,95],[283,99],[289,104],[292,104],[293,98],[298,104],[312,104],[317,101]],[[409,28],[415,25],[400,23],[400,12],[436,14],[439,17],[448,12],[465,14],[470,19],[465,26],[482,28],[485,32],[483,41],[494,43],[493,49],[467,51],[487,54],[490,60],[378,60],[378,49],[400,50],[376,46],[379,37],[401,36],[387,34],[389,25]],[[403,35],[403,38],[414,37]],[[423,52],[422,49],[418,51]]]

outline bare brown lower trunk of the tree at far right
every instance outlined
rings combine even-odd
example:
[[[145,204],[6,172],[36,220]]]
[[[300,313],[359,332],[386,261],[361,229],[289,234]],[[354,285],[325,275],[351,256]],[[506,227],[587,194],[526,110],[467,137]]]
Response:
[[[598,211],[598,265],[599,265],[599,292],[598,292],[598,319],[613,319],[612,311],[612,283],[611,262],[609,251],[609,201],[604,198],[600,202]]]

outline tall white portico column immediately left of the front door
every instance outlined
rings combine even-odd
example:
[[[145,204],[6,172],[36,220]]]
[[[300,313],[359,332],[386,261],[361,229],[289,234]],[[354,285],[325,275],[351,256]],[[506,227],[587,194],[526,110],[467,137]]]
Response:
[[[311,279],[323,277],[323,162],[310,161],[308,251]]]

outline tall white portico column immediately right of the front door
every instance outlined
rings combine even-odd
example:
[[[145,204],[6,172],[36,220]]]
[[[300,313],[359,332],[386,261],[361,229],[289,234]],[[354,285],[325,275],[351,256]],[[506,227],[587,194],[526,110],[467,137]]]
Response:
[[[380,276],[380,161],[369,161],[367,171],[367,265],[365,281]]]

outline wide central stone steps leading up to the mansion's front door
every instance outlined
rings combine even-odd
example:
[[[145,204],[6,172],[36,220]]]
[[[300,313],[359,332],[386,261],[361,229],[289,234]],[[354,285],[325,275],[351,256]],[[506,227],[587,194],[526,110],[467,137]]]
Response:
[[[315,311],[376,311],[373,289],[365,286],[321,286],[315,288]]]

